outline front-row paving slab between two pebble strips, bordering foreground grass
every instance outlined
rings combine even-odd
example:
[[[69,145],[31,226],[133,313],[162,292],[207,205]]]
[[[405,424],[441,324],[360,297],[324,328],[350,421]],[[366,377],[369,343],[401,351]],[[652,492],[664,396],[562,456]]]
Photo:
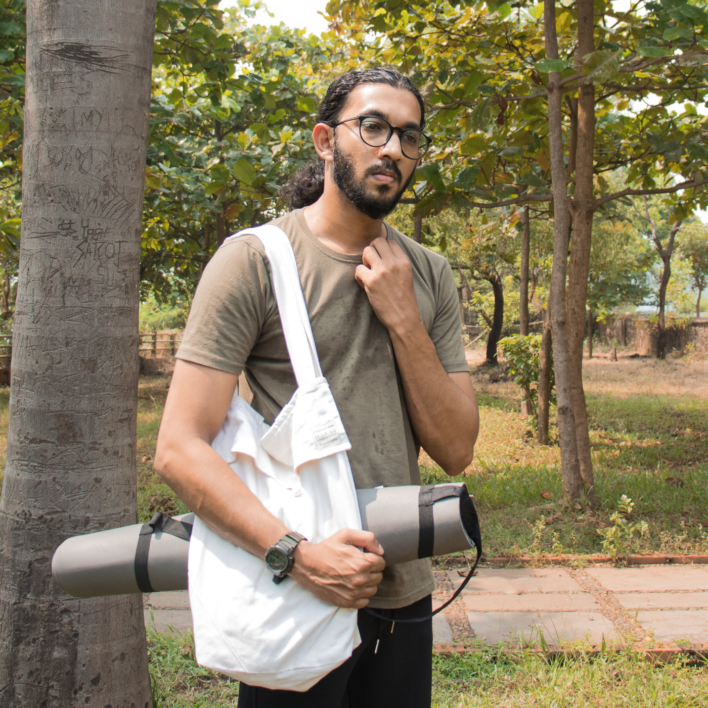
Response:
[[[617,630],[600,612],[468,612],[477,639],[495,644],[500,641],[540,641],[548,644],[589,639],[595,644],[618,638]]]

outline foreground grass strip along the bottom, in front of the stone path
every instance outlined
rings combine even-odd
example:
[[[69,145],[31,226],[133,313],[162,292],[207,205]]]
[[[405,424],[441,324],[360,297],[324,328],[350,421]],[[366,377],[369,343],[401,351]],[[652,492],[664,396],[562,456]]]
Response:
[[[194,663],[191,634],[148,629],[155,708],[232,707],[238,684]],[[685,658],[652,664],[632,651],[580,647],[547,661],[493,648],[433,656],[432,708],[697,708],[708,705],[708,668]]]

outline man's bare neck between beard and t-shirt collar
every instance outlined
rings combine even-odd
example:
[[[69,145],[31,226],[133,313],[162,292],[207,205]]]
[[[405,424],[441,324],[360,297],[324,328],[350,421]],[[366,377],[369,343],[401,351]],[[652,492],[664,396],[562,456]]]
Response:
[[[378,236],[386,238],[383,219],[360,212],[339,190],[327,190],[309,207],[305,221],[322,244],[338,253],[361,253]]]

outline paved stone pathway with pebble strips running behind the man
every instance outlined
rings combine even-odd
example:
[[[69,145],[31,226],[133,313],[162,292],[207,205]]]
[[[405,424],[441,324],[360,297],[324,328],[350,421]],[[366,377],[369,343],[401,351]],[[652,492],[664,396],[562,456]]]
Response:
[[[456,571],[436,573],[439,606],[459,587]],[[145,595],[145,622],[191,629],[186,592]],[[460,597],[434,617],[434,640],[549,646],[587,640],[708,647],[708,566],[478,569]]]

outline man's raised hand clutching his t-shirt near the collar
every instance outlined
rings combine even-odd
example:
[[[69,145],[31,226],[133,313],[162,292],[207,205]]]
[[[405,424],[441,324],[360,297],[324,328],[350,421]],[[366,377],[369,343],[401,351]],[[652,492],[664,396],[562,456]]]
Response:
[[[375,239],[361,254],[356,282],[366,290],[373,312],[391,333],[422,324],[413,287],[413,270],[395,241]]]

